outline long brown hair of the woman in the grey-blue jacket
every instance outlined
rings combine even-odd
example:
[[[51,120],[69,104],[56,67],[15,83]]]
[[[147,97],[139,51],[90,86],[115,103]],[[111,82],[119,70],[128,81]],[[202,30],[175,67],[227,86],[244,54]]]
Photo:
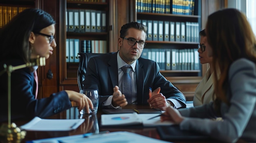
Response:
[[[256,39],[246,16],[236,9],[222,9],[209,15],[206,34],[216,67],[214,105],[217,113],[220,113],[221,102],[229,105],[226,95],[229,90],[229,67],[240,58],[256,63]],[[217,76],[218,71],[221,73]]]

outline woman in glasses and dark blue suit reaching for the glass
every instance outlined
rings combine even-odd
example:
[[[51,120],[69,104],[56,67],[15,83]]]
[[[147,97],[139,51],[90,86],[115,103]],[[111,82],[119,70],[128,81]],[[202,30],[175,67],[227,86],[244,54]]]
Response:
[[[53,48],[55,21],[49,13],[40,9],[25,9],[0,29],[0,71],[3,65],[18,66],[40,57],[49,58]],[[11,73],[11,117],[45,118],[72,107],[70,101],[78,104],[78,109],[92,107],[85,95],[65,90],[43,99],[36,99],[38,89],[34,74],[36,67],[22,68]],[[0,120],[7,120],[7,73],[0,76]],[[4,110],[6,109],[6,110]]]

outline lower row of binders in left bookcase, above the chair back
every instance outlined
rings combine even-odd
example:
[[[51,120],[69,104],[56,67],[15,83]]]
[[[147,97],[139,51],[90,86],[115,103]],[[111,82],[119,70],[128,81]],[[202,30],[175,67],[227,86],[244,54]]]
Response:
[[[107,53],[107,41],[66,39],[66,62],[79,62],[78,53]]]

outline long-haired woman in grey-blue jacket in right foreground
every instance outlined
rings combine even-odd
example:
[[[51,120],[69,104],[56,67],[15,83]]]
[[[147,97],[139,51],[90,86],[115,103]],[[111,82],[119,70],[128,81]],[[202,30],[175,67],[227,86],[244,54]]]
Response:
[[[213,102],[195,108],[172,107],[161,117],[225,142],[256,141],[256,39],[246,16],[223,9],[208,17],[209,56],[213,57]],[[217,73],[220,75],[217,76]],[[222,117],[223,121],[211,118]]]

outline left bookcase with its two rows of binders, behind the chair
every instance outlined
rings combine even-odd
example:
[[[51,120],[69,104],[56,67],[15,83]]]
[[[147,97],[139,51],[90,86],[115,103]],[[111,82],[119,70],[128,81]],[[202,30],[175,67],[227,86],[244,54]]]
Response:
[[[60,13],[62,23],[66,24],[62,25],[61,28],[61,35],[63,35],[63,37],[61,37],[61,42],[63,43],[63,48],[61,51],[59,51],[59,68],[63,69],[60,70],[59,87],[61,89],[75,90],[79,92],[77,84],[77,70],[79,59],[75,59],[76,61],[67,59],[67,51],[70,51],[72,49],[72,47],[70,46],[70,42],[72,42],[72,39],[74,39],[75,41],[79,41],[79,53],[108,53],[117,51],[117,45],[115,43],[115,38],[117,35],[115,33],[115,4],[115,0],[65,0],[65,2],[61,4],[63,5],[62,12]],[[76,20],[74,20],[73,22],[70,21],[70,13],[73,13],[74,18],[76,17],[76,19],[77,15],[75,15],[75,13],[78,13],[78,30],[75,29],[77,25],[75,24],[77,23],[75,22]],[[74,26],[70,24],[70,22],[73,23]],[[98,24],[100,24],[100,27],[98,26]],[[70,26],[73,26],[74,29],[70,30]],[[82,27],[84,27],[84,29]],[[82,44],[85,46],[82,46]],[[74,44],[74,46],[77,47],[76,44]],[[90,51],[88,51],[88,46]],[[76,47],[74,47],[75,50]],[[76,53],[77,52],[74,52],[75,55]]]

